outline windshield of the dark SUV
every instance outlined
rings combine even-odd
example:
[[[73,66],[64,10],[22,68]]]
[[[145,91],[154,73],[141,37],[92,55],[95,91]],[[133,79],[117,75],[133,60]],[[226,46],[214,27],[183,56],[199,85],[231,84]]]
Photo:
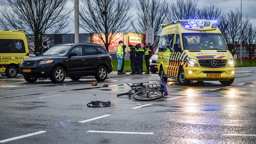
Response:
[[[58,56],[64,56],[68,50],[71,48],[71,46],[53,46],[52,48],[48,49],[45,53],[42,55],[58,55]]]

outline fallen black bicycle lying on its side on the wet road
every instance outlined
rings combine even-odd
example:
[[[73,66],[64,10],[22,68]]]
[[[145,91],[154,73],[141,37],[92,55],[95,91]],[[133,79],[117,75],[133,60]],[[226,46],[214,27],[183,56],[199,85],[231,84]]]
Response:
[[[127,85],[130,86],[128,83]],[[129,90],[129,92],[117,94],[117,96],[129,95],[130,98],[131,95],[133,95],[133,98],[137,101],[153,101],[162,98],[163,92],[165,91],[165,88],[162,84],[157,86],[157,84],[143,85],[143,83],[140,83],[139,87],[131,88],[132,90]]]

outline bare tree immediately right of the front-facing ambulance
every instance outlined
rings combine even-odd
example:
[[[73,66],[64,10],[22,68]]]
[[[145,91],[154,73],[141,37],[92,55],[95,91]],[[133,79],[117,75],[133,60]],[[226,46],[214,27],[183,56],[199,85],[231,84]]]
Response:
[[[226,27],[226,41],[227,43],[232,43],[237,41],[239,43],[240,33],[243,33],[245,27],[247,26],[249,19],[247,17],[243,18],[242,16],[242,31],[241,31],[241,14],[238,8],[235,11],[230,10],[226,15],[227,27]],[[237,47],[234,48],[232,55],[236,53]]]

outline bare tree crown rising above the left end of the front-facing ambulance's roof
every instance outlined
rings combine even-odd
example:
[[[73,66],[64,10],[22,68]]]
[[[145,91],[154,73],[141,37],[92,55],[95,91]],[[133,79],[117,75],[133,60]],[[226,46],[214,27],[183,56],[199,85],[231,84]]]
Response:
[[[197,16],[197,3],[198,0],[176,0],[176,3],[171,3],[167,18],[171,20],[195,19]]]

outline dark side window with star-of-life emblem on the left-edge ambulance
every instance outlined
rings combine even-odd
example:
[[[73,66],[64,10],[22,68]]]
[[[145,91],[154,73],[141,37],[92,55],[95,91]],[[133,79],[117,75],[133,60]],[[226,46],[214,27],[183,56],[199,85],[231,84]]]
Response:
[[[0,39],[0,53],[26,53],[23,40]]]

